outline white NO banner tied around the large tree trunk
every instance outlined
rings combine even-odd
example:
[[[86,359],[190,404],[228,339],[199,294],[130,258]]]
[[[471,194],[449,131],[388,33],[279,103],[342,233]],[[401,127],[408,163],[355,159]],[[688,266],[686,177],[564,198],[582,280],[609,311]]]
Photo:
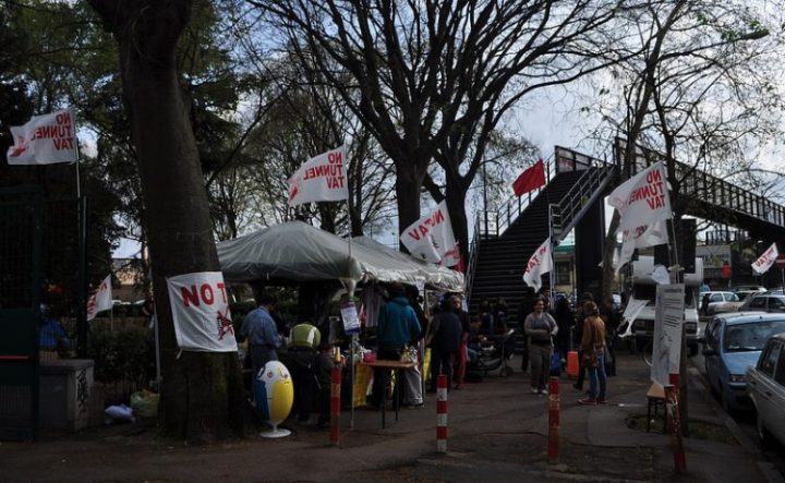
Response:
[[[182,350],[237,351],[224,274],[200,271],[167,278],[174,337]]]

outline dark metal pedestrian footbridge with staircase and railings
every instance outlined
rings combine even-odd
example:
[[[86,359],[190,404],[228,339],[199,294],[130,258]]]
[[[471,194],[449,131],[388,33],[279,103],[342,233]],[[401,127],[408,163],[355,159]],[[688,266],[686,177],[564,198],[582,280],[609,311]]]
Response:
[[[548,237],[550,224],[555,244],[575,230],[577,289],[596,291],[602,279],[603,200],[617,185],[625,147],[624,140],[616,140],[616,162],[606,162],[557,146],[545,167],[544,186],[514,197],[498,210],[478,212],[467,274],[472,310],[483,298],[502,297],[510,309],[510,318],[517,318],[526,289],[526,264]],[[662,159],[655,152],[639,148],[631,174]],[[685,215],[736,227],[752,240],[771,243],[785,238],[785,206],[693,166],[679,161],[673,166],[675,177],[668,177],[672,204],[683,207]]]

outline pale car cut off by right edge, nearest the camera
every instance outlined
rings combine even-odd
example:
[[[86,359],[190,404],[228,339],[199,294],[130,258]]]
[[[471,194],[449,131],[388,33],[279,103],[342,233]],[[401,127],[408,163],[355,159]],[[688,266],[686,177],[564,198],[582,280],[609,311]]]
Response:
[[[769,338],[758,364],[747,370],[749,396],[754,406],[758,437],[785,445],[785,334]]]

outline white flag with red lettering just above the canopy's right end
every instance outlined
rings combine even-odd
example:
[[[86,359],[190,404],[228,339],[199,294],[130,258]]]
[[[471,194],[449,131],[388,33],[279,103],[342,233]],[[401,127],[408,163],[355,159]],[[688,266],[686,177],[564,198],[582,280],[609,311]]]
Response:
[[[426,262],[440,263],[446,267],[460,262],[446,201],[439,203],[436,210],[407,227],[400,240],[409,253]]]

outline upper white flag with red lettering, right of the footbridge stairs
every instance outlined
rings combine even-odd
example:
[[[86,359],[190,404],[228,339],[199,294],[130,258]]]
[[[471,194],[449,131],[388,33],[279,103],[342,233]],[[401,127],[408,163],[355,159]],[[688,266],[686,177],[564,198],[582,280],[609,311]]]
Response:
[[[648,227],[673,217],[665,165],[655,162],[616,188],[608,204],[619,210],[619,230]]]

